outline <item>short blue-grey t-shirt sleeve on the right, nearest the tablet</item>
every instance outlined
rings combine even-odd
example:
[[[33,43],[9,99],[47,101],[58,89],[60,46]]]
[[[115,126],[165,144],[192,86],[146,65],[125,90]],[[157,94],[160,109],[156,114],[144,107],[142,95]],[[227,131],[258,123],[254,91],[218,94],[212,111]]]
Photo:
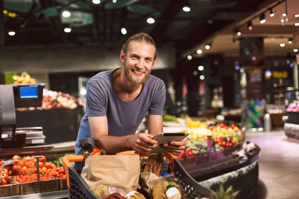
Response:
[[[163,108],[165,105],[166,89],[164,82],[161,80],[155,87],[155,92],[149,106],[149,114],[163,115]]]

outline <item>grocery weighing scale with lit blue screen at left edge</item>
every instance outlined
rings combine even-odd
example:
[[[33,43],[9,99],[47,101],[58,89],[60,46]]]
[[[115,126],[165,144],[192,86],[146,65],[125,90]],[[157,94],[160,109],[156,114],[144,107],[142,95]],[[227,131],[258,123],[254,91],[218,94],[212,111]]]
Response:
[[[45,84],[0,85],[0,148],[45,143],[42,127],[16,128],[15,118],[15,108],[42,105],[44,87]]]

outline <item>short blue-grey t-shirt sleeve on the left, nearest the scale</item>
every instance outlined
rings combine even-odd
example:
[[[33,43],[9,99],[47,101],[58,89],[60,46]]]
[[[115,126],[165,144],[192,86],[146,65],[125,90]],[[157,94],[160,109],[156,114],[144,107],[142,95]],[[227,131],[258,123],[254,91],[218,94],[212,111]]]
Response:
[[[106,98],[99,86],[87,83],[86,113],[88,116],[100,117],[106,115]]]

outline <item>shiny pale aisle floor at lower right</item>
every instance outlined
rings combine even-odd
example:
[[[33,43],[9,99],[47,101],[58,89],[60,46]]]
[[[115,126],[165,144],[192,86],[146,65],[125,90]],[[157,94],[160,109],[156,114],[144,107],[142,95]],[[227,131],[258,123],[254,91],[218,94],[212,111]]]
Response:
[[[299,199],[299,142],[284,131],[246,133],[261,148],[259,182],[250,199]]]

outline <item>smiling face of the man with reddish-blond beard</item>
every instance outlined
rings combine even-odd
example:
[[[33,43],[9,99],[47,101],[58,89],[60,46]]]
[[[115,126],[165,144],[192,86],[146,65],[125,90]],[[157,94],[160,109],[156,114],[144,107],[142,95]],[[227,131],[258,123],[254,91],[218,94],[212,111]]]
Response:
[[[128,45],[127,54],[121,52],[124,71],[127,80],[135,86],[145,84],[149,78],[152,67],[155,47],[150,44],[132,41]]]

